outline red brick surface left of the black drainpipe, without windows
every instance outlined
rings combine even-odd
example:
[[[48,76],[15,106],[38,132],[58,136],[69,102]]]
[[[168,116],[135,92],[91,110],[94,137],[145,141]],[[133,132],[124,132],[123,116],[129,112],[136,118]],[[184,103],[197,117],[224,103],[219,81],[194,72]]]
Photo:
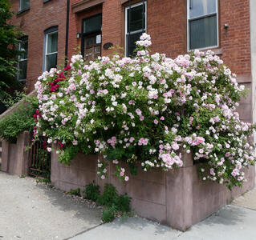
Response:
[[[12,10],[18,12],[18,0],[10,1]],[[66,36],[66,0],[51,0],[43,3],[43,0],[30,0],[30,10],[22,14],[14,15],[12,23],[20,28],[28,36],[28,60],[26,85],[28,92],[34,89],[37,78],[43,70],[43,39],[44,30],[51,26],[59,26],[58,39],[58,65],[65,58]]]

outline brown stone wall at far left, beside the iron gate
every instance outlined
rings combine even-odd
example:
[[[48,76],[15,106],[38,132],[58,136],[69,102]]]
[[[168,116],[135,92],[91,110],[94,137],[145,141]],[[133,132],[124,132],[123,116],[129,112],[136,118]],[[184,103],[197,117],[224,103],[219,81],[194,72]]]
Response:
[[[29,151],[24,146],[30,144],[30,132],[19,134],[16,143],[2,140],[2,166],[1,170],[10,174],[28,174]]]

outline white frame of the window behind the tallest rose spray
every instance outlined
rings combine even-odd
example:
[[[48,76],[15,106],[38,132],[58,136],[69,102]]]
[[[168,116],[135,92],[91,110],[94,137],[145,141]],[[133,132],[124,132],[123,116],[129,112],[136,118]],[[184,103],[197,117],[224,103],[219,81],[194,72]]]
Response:
[[[128,42],[127,42],[127,38],[126,35],[128,34],[128,9],[132,9],[133,7],[136,6],[140,6],[143,5],[145,6],[144,10],[145,10],[145,25],[144,25],[144,30],[136,30],[136,31],[132,31],[130,32],[130,34],[138,34],[141,31],[142,33],[147,33],[147,17],[148,17],[148,10],[147,10],[147,1],[142,1],[142,2],[138,2],[135,4],[132,4],[131,6],[125,6],[124,8],[124,51],[125,51],[125,56],[128,57]]]

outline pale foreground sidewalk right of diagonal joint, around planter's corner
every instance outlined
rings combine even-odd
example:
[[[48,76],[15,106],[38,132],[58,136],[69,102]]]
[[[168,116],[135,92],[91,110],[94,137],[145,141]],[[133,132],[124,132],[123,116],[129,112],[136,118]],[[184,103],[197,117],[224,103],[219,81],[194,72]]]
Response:
[[[142,218],[95,227],[72,240],[255,240],[256,211],[239,206],[226,206],[205,221],[182,233]]]

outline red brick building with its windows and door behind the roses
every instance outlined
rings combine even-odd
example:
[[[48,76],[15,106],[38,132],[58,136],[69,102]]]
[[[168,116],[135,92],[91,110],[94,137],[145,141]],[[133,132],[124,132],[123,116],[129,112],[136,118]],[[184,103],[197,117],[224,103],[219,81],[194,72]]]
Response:
[[[253,0],[10,1],[18,11],[14,25],[27,35],[27,58],[21,58],[20,66],[24,69],[27,62],[29,91],[43,70],[63,64],[65,54],[69,59],[81,52],[90,60],[111,54],[108,46],[118,45],[129,55],[144,31],[152,37],[152,52],[171,58],[196,48],[213,50],[238,75],[238,82],[253,90]],[[246,121],[252,121],[251,99],[242,100],[239,109]]]

